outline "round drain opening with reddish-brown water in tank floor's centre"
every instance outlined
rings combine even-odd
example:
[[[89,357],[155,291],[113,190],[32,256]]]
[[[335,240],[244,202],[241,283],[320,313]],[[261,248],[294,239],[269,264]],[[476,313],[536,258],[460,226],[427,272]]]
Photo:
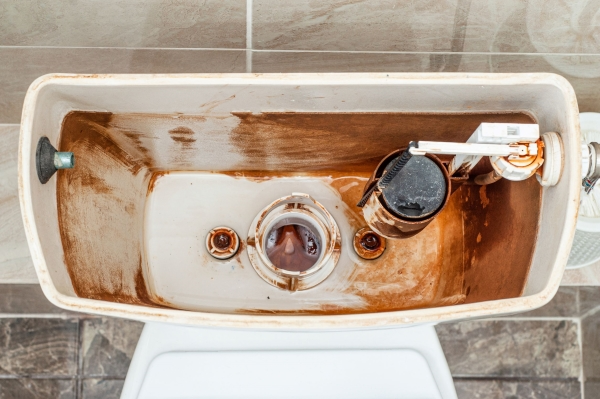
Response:
[[[304,272],[318,262],[323,240],[315,226],[303,222],[284,219],[269,231],[265,252],[275,267]]]

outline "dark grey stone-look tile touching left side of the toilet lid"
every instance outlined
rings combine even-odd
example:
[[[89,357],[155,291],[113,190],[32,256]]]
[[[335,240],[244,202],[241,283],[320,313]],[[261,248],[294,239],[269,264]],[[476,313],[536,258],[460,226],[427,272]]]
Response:
[[[83,374],[125,378],[144,323],[93,318],[82,323]]]

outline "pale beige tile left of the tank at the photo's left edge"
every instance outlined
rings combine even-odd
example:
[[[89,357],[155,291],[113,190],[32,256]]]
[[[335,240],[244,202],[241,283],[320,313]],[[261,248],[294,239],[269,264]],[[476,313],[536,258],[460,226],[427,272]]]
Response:
[[[18,148],[19,125],[0,125],[0,281],[37,282],[19,205]]]

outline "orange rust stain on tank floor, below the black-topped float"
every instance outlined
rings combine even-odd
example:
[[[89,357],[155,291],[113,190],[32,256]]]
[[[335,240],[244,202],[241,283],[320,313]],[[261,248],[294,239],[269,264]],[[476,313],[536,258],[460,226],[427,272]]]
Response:
[[[420,234],[388,240],[381,257],[357,264],[349,290],[367,303],[361,312],[444,306],[462,300],[460,200],[460,195],[453,195],[447,208]]]

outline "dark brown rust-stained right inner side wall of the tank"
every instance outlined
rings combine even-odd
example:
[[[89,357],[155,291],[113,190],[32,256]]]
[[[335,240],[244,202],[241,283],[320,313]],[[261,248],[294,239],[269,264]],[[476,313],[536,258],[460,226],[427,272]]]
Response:
[[[467,302],[520,296],[537,239],[540,185],[530,177],[463,189]]]

